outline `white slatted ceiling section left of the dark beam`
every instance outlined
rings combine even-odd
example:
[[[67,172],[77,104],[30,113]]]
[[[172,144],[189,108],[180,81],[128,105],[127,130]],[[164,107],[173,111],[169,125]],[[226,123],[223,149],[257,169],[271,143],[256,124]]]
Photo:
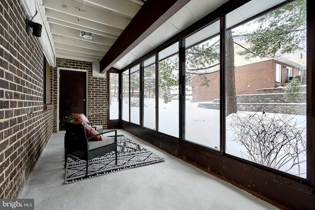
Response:
[[[43,0],[56,57],[100,60],[142,5],[142,0]],[[81,30],[93,39],[80,37]]]

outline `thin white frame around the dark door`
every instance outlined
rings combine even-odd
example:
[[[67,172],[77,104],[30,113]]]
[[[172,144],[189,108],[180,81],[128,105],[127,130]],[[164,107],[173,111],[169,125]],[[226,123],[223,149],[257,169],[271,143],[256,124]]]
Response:
[[[76,68],[63,68],[63,67],[58,67],[57,68],[57,113],[56,113],[56,119],[57,119],[57,132],[59,131],[59,123],[60,123],[60,119],[59,119],[59,103],[60,103],[60,70],[67,70],[67,71],[80,71],[80,72],[85,72],[86,74],[86,114],[87,114],[87,118],[89,118],[88,116],[88,101],[89,101],[89,95],[88,95],[88,70],[83,70],[83,69],[76,69]]]

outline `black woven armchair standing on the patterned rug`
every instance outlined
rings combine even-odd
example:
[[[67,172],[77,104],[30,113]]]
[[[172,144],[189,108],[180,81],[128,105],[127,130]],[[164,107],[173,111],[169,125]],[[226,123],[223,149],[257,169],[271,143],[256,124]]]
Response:
[[[69,154],[87,162],[86,177],[88,176],[89,160],[100,157],[108,152],[115,151],[115,164],[117,165],[117,130],[109,130],[99,133],[115,132],[115,137],[101,136],[102,141],[89,141],[95,136],[87,137],[84,125],[81,123],[65,123],[64,135],[64,167]]]

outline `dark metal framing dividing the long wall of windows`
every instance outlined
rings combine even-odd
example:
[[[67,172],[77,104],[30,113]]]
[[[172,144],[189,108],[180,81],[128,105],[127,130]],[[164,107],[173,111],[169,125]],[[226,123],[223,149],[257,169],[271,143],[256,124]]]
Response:
[[[315,171],[315,166],[313,166],[313,158],[315,157],[315,154],[313,154],[312,151],[314,151],[314,147],[315,144],[312,141],[312,136],[314,136],[315,134],[313,134],[313,131],[311,131],[311,129],[308,129],[307,131],[307,178],[303,179],[303,178],[299,178],[296,177],[294,175],[290,175],[287,174],[285,172],[276,170],[276,169],[272,169],[270,167],[267,166],[263,166],[260,164],[256,164],[254,162],[239,158],[239,157],[235,157],[233,155],[230,154],[226,154],[225,153],[225,15],[228,14],[229,12],[233,11],[234,9],[244,5],[245,3],[249,2],[250,0],[239,0],[239,1],[231,1],[226,3],[226,5],[219,7],[218,9],[216,9],[215,11],[211,12],[210,14],[208,14],[207,16],[205,16],[204,18],[202,18],[201,20],[197,21],[196,23],[194,23],[193,25],[191,25],[189,28],[187,28],[186,30],[180,32],[179,34],[177,34],[176,36],[170,38],[169,40],[167,40],[166,42],[164,42],[162,45],[158,46],[156,49],[152,50],[150,53],[146,54],[145,56],[143,56],[142,58],[134,61],[133,63],[131,63],[130,65],[128,65],[125,69],[123,69],[123,71],[130,69],[131,67],[137,65],[140,63],[140,72],[141,72],[141,76],[140,76],[140,81],[141,81],[141,86],[140,86],[140,91],[143,91],[143,61],[152,57],[152,56],[156,56],[156,91],[158,94],[158,53],[162,50],[164,50],[165,48],[169,47],[170,45],[179,42],[179,138],[175,138],[175,137],[171,137],[168,136],[167,134],[163,134],[158,132],[158,97],[157,101],[156,101],[156,131],[157,133],[161,134],[161,135],[165,135],[168,137],[173,138],[174,140],[177,141],[185,141],[185,100],[183,100],[183,96],[185,95],[185,38],[188,37],[189,35],[195,33],[198,30],[202,30],[203,28],[207,27],[208,25],[210,25],[211,23],[217,21],[218,19],[220,19],[220,54],[221,54],[221,65],[220,65],[220,97],[221,97],[221,103],[220,103],[220,120],[221,120],[221,128],[220,128],[220,133],[221,133],[221,138],[220,138],[220,154],[232,159],[235,159],[237,161],[240,162],[245,162],[246,164],[252,165],[256,168],[260,168],[266,171],[269,171],[273,174],[277,174],[280,176],[283,176],[285,178],[288,178],[290,180],[295,180],[301,183],[305,183],[305,184],[309,184],[309,185],[315,185],[315,173],[312,173],[313,171]],[[286,3],[289,3],[293,0],[286,0],[283,3],[274,6],[272,8],[269,8],[268,10],[265,10],[262,13],[256,14],[253,17],[251,17],[250,19],[245,20],[244,22],[248,22],[252,19],[255,19],[256,17],[267,13],[279,6],[282,6]],[[307,0],[308,2],[310,2],[310,0]],[[308,7],[307,7],[308,8]],[[310,9],[308,9],[308,11],[310,11]],[[313,29],[314,30],[314,26],[311,27],[311,21],[314,20],[310,20],[310,18],[308,18],[307,21],[307,25],[308,25],[308,37],[314,37],[315,33],[309,29]],[[238,25],[242,25],[244,24],[244,22],[241,22],[237,25],[234,25],[234,27],[238,26]],[[313,22],[314,23],[314,22]],[[309,39],[310,40],[310,39]],[[311,56],[311,52],[315,51],[315,44],[311,44],[308,43],[308,54],[307,54],[307,68],[308,69],[312,69],[313,66],[315,64],[313,64],[312,60],[312,56]],[[313,65],[312,65],[313,64]],[[307,105],[307,109],[308,109],[308,114],[307,114],[307,127],[311,128],[312,127],[312,122],[315,123],[315,114],[310,114],[310,110],[315,110],[315,105],[312,106],[311,104],[315,104],[315,102],[313,102],[314,100],[310,100],[311,96],[312,96],[312,71],[309,70],[307,71],[308,73],[308,90],[307,90],[307,94],[308,94],[308,105]],[[315,77],[315,76],[314,76]],[[148,128],[142,127],[143,125],[143,94],[140,94],[140,98],[141,98],[141,104],[140,104],[140,127],[141,130],[146,130]],[[122,102],[122,101],[121,101]],[[315,111],[313,111],[315,113]],[[130,122],[130,72],[129,72],[129,122]],[[132,123],[132,122],[131,122]],[[150,129],[151,130],[151,129]],[[202,146],[200,146],[202,147]],[[218,150],[212,150],[209,149],[209,151],[214,152],[214,153],[218,153]]]

